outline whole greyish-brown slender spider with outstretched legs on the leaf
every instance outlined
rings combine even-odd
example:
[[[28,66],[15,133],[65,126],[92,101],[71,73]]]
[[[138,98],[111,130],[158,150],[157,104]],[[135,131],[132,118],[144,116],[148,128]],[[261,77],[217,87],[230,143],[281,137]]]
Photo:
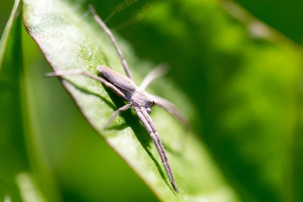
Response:
[[[151,112],[150,107],[153,105],[158,105],[165,110],[167,110],[169,113],[171,113],[174,117],[176,117],[181,123],[184,125],[187,125],[186,119],[179,113],[179,111],[176,109],[176,107],[171,104],[168,100],[149,94],[145,91],[146,87],[156,78],[162,76],[165,74],[165,69],[163,68],[163,64],[160,64],[157,68],[155,68],[153,71],[151,71],[149,74],[146,75],[146,77],[143,79],[141,85],[138,87],[132,79],[132,75],[129,71],[128,65],[126,60],[124,59],[124,56],[121,52],[121,49],[119,48],[116,39],[111,32],[111,30],[106,26],[106,24],[99,18],[99,16],[96,14],[94,8],[89,5],[89,9],[91,11],[91,14],[93,15],[96,22],[106,31],[106,33],[109,35],[111,41],[113,42],[116,51],[118,52],[121,63],[123,65],[123,68],[126,72],[126,75],[120,74],[119,72],[116,72],[106,66],[99,65],[97,67],[97,70],[100,74],[102,74],[102,77],[95,76],[93,74],[90,74],[88,72],[85,72],[83,70],[66,70],[66,71],[56,71],[53,73],[48,73],[46,76],[65,76],[65,75],[79,75],[82,74],[84,76],[88,76],[92,79],[95,79],[101,83],[103,83],[106,87],[111,89],[113,92],[115,92],[118,96],[125,99],[128,103],[119,108],[114,112],[112,117],[109,119],[109,121],[106,123],[106,126],[108,126],[115,117],[117,117],[121,112],[124,112],[131,107],[134,109],[135,113],[139,117],[140,121],[146,128],[147,132],[151,136],[151,139],[153,139],[158,153],[161,157],[161,161],[164,165],[165,171],[168,175],[168,178],[176,192],[178,192],[178,188],[174,179],[174,175],[172,172],[172,169],[169,165],[164,146],[162,144],[161,138],[157,132],[156,126],[151,120],[149,114]]]

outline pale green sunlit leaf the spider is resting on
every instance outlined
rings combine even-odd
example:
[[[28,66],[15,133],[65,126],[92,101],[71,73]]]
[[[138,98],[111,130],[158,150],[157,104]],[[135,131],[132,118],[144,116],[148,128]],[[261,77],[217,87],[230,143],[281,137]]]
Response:
[[[77,8],[79,5],[67,1],[25,0],[23,22],[54,71],[82,69],[96,74],[97,65],[106,65],[123,73],[120,59],[104,30]],[[118,43],[126,54],[135,81],[140,81],[144,76],[142,72],[151,69],[150,66],[138,61],[123,40],[118,39]],[[126,112],[110,129],[103,128],[112,113],[124,104],[121,98],[84,76],[67,76],[61,82],[88,123],[161,200],[237,200],[203,143],[168,113],[155,109],[151,117],[166,145],[178,194],[172,191],[157,149],[134,113]],[[178,100],[177,104],[189,106],[182,108],[185,114],[193,114],[190,102],[172,82],[163,79],[158,82],[169,97]]]

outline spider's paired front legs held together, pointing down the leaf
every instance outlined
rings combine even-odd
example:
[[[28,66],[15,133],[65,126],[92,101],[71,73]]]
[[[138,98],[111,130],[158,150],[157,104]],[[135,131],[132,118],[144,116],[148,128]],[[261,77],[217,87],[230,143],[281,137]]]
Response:
[[[176,192],[178,192],[178,188],[177,188],[176,182],[174,180],[173,172],[172,172],[172,169],[171,169],[171,167],[168,163],[168,159],[166,157],[165,149],[164,149],[163,144],[161,142],[160,136],[159,136],[157,131],[156,131],[157,134],[154,132],[154,130],[152,129],[152,127],[149,124],[149,121],[146,120],[146,116],[149,117],[149,115],[147,114],[145,109],[140,110],[139,108],[134,108],[134,110],[135,110],[136,114],[138,115],[139,119],[141,120],[142,124],[146,128],[147,132],[149,133],[151,139],[153,139],[153,141],[156,145],[156,148],[158,150],[158,153],[161,157],[161,161],[164,165],[165,171],[166,171],[166,173],[169,177],[169,180],[172,183],[172,185],[174,187],[174,190]],[[149,117],[149,119],[150,119],[150,117]],[[156,129],[155,126],[154,126],[154,129]]]

